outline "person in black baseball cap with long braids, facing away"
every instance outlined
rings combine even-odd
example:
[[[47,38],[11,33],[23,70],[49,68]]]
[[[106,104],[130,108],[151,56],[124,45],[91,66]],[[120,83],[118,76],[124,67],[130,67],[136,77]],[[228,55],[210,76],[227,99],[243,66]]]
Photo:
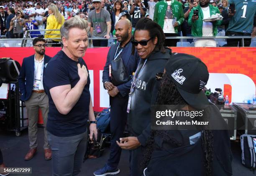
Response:
[[[209,103],[202,89],[207,66],[193,55],[174,53],[167,61],[156,105],[180,105],[187,111],[204,110],[202,118],[227,129],[218,108]],[[180,117],[177,117],[180,120]],[[197,119],[197,118],[195,118]],[[232,153],[228,130],[203,127],[195,130],[151,130],[142,165],[144,176],[231,176]]]

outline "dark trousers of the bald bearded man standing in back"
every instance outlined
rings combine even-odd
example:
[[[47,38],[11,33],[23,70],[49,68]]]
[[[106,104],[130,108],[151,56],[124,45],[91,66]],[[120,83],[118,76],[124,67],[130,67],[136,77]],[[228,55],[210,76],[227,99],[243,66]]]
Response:
[[[110,97],[110,131],[111,131],[111,147],[108,166],[117,168],[120,161],[122,149],[117,145],[116,141],[123,137],[125,123],[127,121],[127,104],[128,96],[122,98],[120,96]]]

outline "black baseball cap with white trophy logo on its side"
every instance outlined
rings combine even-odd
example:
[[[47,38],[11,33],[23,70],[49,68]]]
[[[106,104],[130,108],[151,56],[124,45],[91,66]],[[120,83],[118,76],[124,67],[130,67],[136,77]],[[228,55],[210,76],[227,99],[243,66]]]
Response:
[[[189,105],[197,109],[209,105],[208,98],[202,91],[209,79],[209,72],[202,60],[193,55],[173,53],[165,70]]]

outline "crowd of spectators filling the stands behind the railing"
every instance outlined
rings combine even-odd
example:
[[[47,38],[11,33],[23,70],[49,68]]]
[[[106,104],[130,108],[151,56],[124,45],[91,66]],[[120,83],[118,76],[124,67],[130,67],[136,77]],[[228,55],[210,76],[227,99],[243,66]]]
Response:
[[[89,37],[109,39],[112,36],[115,37],[115,24],[123,16],[132,22],[133,30],[139,19],[151,18],[162,27],[166,37],[213,37],[217,35],[254,37],[256,35],[255,8],[253,9],[253,6],[246,9],[243,6],[236,7],[237,11],[231,13],[228,8],[229,3],[234,3],[234,0],[230,2],[228,0],[205,0],[202,3],[199,3],[199,0],[3,1],[0,3],[2,17],[0,18],[0,30],[1,35],[6,35],[6,38],[23,38],[26,30],[37,30],[40,26],[41,29],[59,30],[64,20],[79,15],[89,22],[87,29],[90,31]],[[162,7],[164,10],[161,9]],[[101,9],[104,10],[101,11]],[[218,18],[210,23],[203,20],[211,18],[216,13],[217,16],[222,15],[223,19]],[[47,31],[45,35],[41,35],[39,31],[31,31],[29,36],[31,38],[60,38],[59,31]],[[60,46],[59,39],[50,41],[56,44],[54,46]],[[177,46],[177,41],[177,39],[166,39],[165,46]],[[192,43],[193,39],[187,41]],[[237,46],[238,41],[241,46],[241,40],[228,39],[228,46]],[[195,39],[194,42],[195,46],[216,46],[214,39]],[[251,39],[244,40],[245,46],[250,44]],[[93,45],[95,47],[107,46],[108,40],[93,40]]]

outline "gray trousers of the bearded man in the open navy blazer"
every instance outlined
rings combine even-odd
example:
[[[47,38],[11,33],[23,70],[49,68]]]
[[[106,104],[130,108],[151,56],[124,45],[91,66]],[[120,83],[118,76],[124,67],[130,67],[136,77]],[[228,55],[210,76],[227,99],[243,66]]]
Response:
[[[43,118],[44,118],[44,149],[50,148],[48,139],[47,139],[47,131],[46,131],[46,123],[49,112],[49,100],[46,93],[32,93],[31,97],[25,102],[26,108],[28,112],[28,139],[29,139],[29,147],[36,148],[37,147],[37,121],[38,121],[38,111],[39,107],[41,109]]]

